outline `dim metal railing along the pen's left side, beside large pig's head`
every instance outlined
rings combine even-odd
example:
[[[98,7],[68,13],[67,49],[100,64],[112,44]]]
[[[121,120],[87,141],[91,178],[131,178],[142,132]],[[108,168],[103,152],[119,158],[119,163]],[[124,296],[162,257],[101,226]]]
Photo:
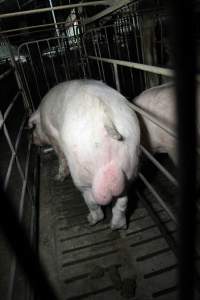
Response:
[[[11,156],[8,161],[7,170],[5,170],[5,177],[3,179],[3,188],[4,192],[9,192],[11,196],[14,196],[16,193],[15,191],[18,190],[19,193],[16,193],[15,195],[15,203],[14,206],[16,208],[16,215],[19,223],[22,223],[23,217],[24,217],[24,207],[25,207],[25,198],[26,201],[29,202],[29,206],[31,207],[31,213],[33,213],[35,202],[34,195],[32,191],[34,188],[31,189],[30,187],[30,181],[29,181],[29,172],[30,172],[30,154],[31,154],[31,140],[27,140],[27,134],[24,134],[24,128],[27,121],[27,118],[29,116],[29,110],[28,110],[28,103],[27,99],[25,97],[24,92],[22,91],[22,86],[20,84],[20,77],[16,70],[16,65],[14,62],[14,58],[12,57],[12,53],[10,53],[11,57],[11,65],[8,66],[7,70],[0,75],[0,84],[3,84],[4,87],[7,87],[7,93],[11,87],[14,86],[17,87],[17,90],[15,91],[15,95],[10,99],[9,97],[3,97],[1,98],[1,104],[7,105],[4,111],[1,112],[1,126],[0,130],[2,131],[5,141],[3,143],[2,137],[1,137],[1,158],[0,158],[0,165],[1,169],[3,167],[3,160],[8,158],[8,150],[9,148]],[[8,93],[9,94],[9,93]],[[23,112],[18,112],[19,107],[23,107]],[[15,118],[10,119],[10,115],[13,115],[13,112],[16,113],[16,115],[20,114],[20,123],[19,125],[15,125]],[[13,136],[12,130],[15,128],[16,136]],[[22,143],[26,144],[26,146],[23,146],[22,149]],[[23,150],[23,151],[22,151]],[[23,159],[21,158],[23,152]],[[6,159],[7,161],[7,159]],[[5,169],[6,166],[3,167]],[[16,170],[18,172],[18,181],[19,183],[13,183],[13,170]],[[17,184],[17,186],[16,186]],[[33,183],[32,183],[33,184]],[[3,200],[2,200],[3,201]],[[27,204],[27,203],[26,203]],[[33,223],[35,222],[35,219],[33,219],[30,216],[31,224],[30,225],[30,231],[28,233],[29,237],[32,236],[32,230],[34,228]],[[32,236],[31,240],[34,237]],[[13,297],[13,288],[14,288],[14,282],[15,282],[15,275],[16,275],[16,257],[12,255],[12,259],[10,262],[10,276],[9,276],[9,287],[8,287],[8,300],[11,300]]]

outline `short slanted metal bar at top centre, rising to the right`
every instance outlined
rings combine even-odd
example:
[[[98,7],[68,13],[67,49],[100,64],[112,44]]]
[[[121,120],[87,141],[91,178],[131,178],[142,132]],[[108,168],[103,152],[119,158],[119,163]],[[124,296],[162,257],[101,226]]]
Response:
[[[117,2],[117,3],[116,3]],[[86,24],[89,24],[89,23],[92,23],[102,17],[105,17],[107,16],[108,14],[112,13],[113,11],[121,8],[122,6],[124,5],[127,5],[127,4],[130,4],[131,2],[133,2],[133,0],[118,0],[118,1],[110,1],[110,3],[112,3],[112,5],[106,9],[104,9],[103,11],[101,11],[100,13],[90,17],[90,18],[87,18],[83,24],[86,25]],[[134,1],[134,2],[138,2],[137,1]]]

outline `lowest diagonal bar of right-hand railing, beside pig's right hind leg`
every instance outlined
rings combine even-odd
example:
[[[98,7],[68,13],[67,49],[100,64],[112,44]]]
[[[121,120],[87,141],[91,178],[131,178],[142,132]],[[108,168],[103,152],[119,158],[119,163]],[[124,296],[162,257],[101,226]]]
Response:
[[[142,173],[139,172],[138,174],[139,178],[142,180],[142,182],[146,185],[146,187],[150,190],[150,192],[154,195],[156,200],[159,202],[159,204],[164,208],[164,210],[167,212],[167,214],[170,216],[170,218],[178,224],[177,218],[172,212],[171,208],[168,207],[168,205],[163,201],[163,199],[160,197],[160,195],[156,192],[154,187],[150,184],[150,182],[144,177]]]

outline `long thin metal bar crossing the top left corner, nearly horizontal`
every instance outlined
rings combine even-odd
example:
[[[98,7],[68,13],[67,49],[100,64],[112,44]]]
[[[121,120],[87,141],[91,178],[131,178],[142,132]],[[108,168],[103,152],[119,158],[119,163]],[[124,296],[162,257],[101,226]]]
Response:
[[[1,14],[0,19],[45,13],[45,12],[49,12],[52,10],[57,11],[57,10],[63,10],[63,9],[76,8],[76,7],[86,7],[86,6],[96,6],[96,5],[105,5],[106,6],[106,5],[109,5],[109,1],[102,0],[102,1],[93,1],[93,2],[86,2],[86,3],[59,5],[59,6],[54,6],[53,8],[44,7],[44,8],[38,8],[38,9],[24,10],[24,11],[18,11],[18,12],[13,12],[13,13]]]

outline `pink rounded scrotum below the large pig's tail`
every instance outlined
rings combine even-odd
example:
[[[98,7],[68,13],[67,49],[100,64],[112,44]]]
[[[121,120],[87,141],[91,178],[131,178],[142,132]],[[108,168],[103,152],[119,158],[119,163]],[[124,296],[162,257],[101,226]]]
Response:
[[[114,196],[122,194],[125,188],[125,176],[115,162],[100,168],[93,181],[93,194],[99,205],[107,205]]]

